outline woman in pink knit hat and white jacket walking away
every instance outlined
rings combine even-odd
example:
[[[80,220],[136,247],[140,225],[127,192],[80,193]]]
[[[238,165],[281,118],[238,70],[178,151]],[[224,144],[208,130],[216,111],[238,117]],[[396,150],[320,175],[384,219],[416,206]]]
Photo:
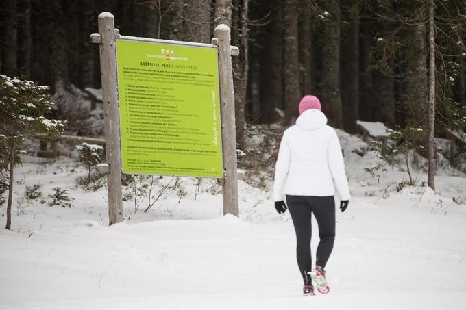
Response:
[[[278,213],[288,207],[296,232],[296,257],[304,281],[305,295],[328,293],[326,263],[335,239],[335,186],[341,199],[340,209],[349,203],[345,164],[336,131],[327,125],[316,96],[304,96],[299,103],[296,125],[283,133],[275,164],[273,199]],[[286,196],[286,204],[285,204]],[[315,268],[310,252],[311,214],[319,226]]]

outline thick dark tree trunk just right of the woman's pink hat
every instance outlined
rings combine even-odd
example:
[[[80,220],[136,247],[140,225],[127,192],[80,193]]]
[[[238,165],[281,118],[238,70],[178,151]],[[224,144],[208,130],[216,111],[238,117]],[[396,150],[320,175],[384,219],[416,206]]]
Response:
[[[328,1],[328,21],[322,31],[321,103],[323,112],[334,127],[343,127],[340,94],[340,1]]]

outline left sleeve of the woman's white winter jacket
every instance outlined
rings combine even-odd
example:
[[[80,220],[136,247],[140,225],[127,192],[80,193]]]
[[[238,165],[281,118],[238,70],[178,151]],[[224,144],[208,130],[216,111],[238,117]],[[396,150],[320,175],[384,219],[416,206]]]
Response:
[[[288,176],[290,168],[291,152],[288,141],[286,139],[286,132],[283,134],[282,142],[280,142],[280,149],[278,151],[277,162],[275,164],[275,181],[273,182],[273,201],[284,201],[284,187],[286,177]]]

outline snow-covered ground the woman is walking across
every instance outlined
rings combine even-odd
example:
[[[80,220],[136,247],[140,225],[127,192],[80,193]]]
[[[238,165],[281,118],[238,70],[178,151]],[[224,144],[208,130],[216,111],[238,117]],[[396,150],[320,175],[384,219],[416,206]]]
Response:
[[[125,221],[108,227],[106,190],[75,185],[83,168],[25,157],[12,229],[4,217],[0,229],[0,309],[466,309],[465,175],[441,166],[437,193],[421,185],[422,163],[416,186],[400,187],[402,164],[377,181],[364,172],[377,162],[367,144],[339,135],[353,198],[337,212],[330,294],[302,296],[293,224],[276,214],[270,180],[240,181],[239,219],[222,215],[213,181],[182,179],[146,213],[129,199]],[[156,194],[169,182],[157,180]],[[35,183],[45,203],[24,198]],[[56,186],[73,207],[48,205]]]

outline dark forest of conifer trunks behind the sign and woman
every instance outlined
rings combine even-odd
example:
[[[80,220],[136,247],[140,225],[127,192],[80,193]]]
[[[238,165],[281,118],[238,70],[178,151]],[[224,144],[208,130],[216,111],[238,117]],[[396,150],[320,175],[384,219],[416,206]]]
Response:
[[[435,130],[445,135],[446,128],[465,125],[466,3],[432,3]],[[330,125],[349,133],[358,131],[356,120],[422,129],[428,121],[429,5],[419,0],[2,0],[0,68],[3,75],[51,86],[59,94],[55,117],[69,120],[71,131],[93,135],[72,128],[81,116],[70,111],[68,94],[101,87],[99,49],[89,41],[100,12],[112,12],[123,35],[169,40],[210,42],[214,27],[225,23],[241,51],[233,57],[239,147],[247,124],[293,122],[304,94],[319,96]],[[421,135],[419,145],[425,142]]]

